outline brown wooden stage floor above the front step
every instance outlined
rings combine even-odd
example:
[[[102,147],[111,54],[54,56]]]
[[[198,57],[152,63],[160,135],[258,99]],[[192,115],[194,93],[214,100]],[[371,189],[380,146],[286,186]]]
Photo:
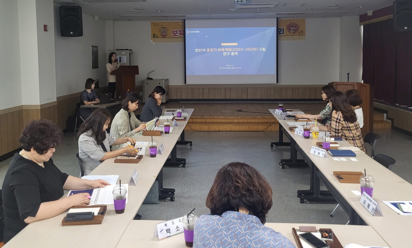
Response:
[[[285,102],[284,108],[301,109],[306,113],[318,114],[325,108],[325,102]],[[184,106],[194,109],[192,116],[272,116],[268,109],[277,109],[278,102],[167,102],[165,108]],[[243,111],[262,112],[247,113]],[[266,113],[266,114],[265,114]]]

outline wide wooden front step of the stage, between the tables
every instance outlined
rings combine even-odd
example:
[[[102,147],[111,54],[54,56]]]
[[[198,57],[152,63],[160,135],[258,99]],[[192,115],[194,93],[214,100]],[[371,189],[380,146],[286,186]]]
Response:
[[[192,116],[185,130],[279,131],[279,123],[273,116]]]

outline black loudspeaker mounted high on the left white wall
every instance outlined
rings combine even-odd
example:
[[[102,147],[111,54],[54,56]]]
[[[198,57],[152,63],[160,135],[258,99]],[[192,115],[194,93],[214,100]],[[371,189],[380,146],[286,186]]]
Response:
[[[60,35],[63,37],[83,36],[82,7],[60,6]]]

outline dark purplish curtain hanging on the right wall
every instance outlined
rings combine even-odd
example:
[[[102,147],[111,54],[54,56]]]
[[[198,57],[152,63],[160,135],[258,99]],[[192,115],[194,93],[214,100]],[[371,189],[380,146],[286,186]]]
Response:
[[[362,79],[373,98],[412,106],[412,32],[394,32],[392,19],[364,25]]]

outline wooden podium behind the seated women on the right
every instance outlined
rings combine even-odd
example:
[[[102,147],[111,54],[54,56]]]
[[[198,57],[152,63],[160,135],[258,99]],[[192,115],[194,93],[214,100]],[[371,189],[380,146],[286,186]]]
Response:
[[[358,90],[362,98],[363,128],[362,134],[373,132],[373,95],[372,88],[367,83],[359,82],[331,82],[329,85],[335,87],[337,91]]]

